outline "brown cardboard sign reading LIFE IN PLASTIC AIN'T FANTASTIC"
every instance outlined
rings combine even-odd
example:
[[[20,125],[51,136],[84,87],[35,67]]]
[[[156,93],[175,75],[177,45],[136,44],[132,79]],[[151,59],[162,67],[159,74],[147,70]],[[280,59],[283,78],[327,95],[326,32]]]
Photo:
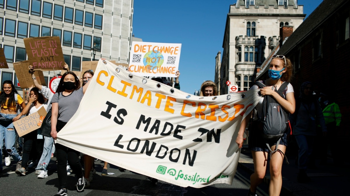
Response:
[[[23,38],[23,41],[34,69],[63,69],[65,62],[59,37],[31,37]]]

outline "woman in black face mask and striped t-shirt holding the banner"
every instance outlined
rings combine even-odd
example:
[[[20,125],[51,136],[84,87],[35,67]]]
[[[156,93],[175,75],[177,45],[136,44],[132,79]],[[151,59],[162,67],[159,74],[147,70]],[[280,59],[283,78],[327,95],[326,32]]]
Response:
[[[51,136],[57,139],[57,133],[66,125],[78,110],[80,101],[89,86],[87,82],[80,88],[80,81],[72,71],[62,75],[56,93],[51,100]],[[57,153],[57,175],[59,181],[58,193],[56,195],[67,195],[67,161],[77,176],[77,191],[83,191],[85,180],[82,165],[79,161],[79,152],[62,144],[55,143]]]

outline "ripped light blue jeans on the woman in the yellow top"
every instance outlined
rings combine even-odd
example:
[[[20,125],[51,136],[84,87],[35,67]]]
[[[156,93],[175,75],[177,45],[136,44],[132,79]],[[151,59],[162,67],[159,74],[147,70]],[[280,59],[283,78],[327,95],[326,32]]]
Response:
[[[13,119],[17,116],[17,114],[3,114],[3,113],[1,113],[1,115],[8,119]],[[3,145],[4,139],[5,139],[5,145]],[[8,125],[7,127],[3,127],[2,125],[0,125],[0,144],[1,144],[0,146],[5,146],[9,155],[12,156],[13,159],[17,162],[17,161],[21,161],[22,157],[19,156],[15,148],[15,140],[16,140],[16,131],[13,126],[13,123]],[[2,157],[1,150],[0,150],[0,157]],[[2,166],[0,166],[0,169],[1,168]]]

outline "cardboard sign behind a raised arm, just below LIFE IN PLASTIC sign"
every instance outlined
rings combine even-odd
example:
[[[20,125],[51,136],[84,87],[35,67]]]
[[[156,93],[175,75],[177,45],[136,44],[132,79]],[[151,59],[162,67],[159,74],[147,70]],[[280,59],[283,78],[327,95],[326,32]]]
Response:
[[[15,69],[18,82],[20,83],[21,89],[30,88],[34,86],[33,78],[28,72],[29,61],[14,62],[13,68]],[[35,71],[36,80],[39,84],[46,86],[44,74],[42,71]]]

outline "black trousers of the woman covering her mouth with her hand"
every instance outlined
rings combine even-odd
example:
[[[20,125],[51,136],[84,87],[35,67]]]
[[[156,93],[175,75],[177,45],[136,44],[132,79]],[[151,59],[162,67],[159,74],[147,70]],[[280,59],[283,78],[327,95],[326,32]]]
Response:
[[[33,162],[37,159],[38,161],[41,158],[44,149],[44,140],[37,139],[37,131],[31,131],[30,133],[23,135],[24,144],[23,144],[23,155],[22,155],[22,167],[27,168],[27,163],[29,160],[30,152],[35,152],[36,156],[32,156]],[[36,147],[36,151],[33,151],[32,148]]]

